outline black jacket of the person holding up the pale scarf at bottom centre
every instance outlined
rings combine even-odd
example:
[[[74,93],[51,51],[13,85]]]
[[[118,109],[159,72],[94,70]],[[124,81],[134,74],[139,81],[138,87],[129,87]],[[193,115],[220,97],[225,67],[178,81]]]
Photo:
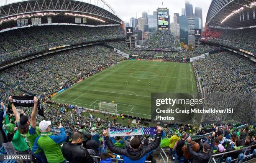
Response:
[[[117,146],[115,146],[112,143],[112,141],[110,140],[110,138],[108,136],[104,137],[104,140],[111,152],[116,153],[118,155],[124,155],[124,156],[130,158],[131,160],[135,161],[135,160],[138,160],[141,157],[145,156],[150,151],[158,148],[158,146],[161,142],[161,133],[156,133],[156,139],[155,139],[154,143],[151,143],[148,146],[141,146],[137,150],[133,150],[133,148],[131,148],[131,147],[128,147],[126,149],[118,148]]]

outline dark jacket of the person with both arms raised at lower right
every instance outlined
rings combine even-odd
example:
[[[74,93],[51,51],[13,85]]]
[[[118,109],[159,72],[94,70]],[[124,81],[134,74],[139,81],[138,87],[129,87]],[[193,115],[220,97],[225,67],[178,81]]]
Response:
[[[210,151],[208,153],[196,153],[195,151],[193,151],[191,143],[187,144],[189,153],[194,157],[193,163],[208,163],[214,149],[214,140],[215,139],[212,138]]]

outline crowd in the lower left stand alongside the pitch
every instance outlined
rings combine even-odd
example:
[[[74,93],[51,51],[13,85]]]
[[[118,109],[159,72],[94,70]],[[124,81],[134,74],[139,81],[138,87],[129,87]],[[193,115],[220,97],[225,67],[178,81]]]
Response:
[[[4,92],[0,99],[21,91],[48,96],[61,86],[121,59],[104,46],[84,47],[34,59],[0,72],[0,89]]]

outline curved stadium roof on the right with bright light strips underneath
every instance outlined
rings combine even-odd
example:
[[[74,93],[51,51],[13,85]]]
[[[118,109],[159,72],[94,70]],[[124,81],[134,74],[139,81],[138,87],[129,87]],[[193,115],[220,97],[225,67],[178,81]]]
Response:
[[[208,26],[234,28],[254,26],[256,25],[256,19],[253,19],[255,5],[256,0],[212,0],[206,23]]]

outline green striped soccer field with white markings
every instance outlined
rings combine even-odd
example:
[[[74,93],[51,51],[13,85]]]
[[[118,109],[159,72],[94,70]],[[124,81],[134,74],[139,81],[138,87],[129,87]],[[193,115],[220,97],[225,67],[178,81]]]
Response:
[[[151,118],[151,93],[166,92],[197,92],[191,64],[125,60],[69,87],[52,100],[90,109],[98,109],[100,101],[114,101],[118,114]]]

